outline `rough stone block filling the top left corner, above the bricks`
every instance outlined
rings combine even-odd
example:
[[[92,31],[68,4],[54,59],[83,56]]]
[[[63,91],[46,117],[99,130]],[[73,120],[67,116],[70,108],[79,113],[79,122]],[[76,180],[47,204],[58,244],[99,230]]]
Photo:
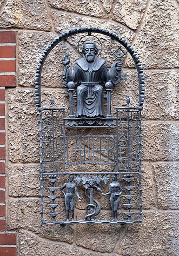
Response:
[[[46,1],[6,1],[6,5],[0,15],[0,24],[1,27],[20,27],[49,31],[51,22]]]

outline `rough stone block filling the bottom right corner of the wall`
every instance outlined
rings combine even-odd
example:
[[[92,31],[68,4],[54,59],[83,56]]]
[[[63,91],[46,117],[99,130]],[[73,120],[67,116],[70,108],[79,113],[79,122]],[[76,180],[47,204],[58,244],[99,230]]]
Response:
[[[177,256],[178,222],[177,212],[146,212],[141,224],[126,227],[126,234],[115,253],[125,256]]]

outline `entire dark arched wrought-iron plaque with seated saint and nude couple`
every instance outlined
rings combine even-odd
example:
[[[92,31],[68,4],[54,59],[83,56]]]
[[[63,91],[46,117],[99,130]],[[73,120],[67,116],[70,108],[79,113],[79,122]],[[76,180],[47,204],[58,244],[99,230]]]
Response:
[[[72,67],[70,55],[61,56],[63,85],[70,102],[70,113],[66,114],[66,108],[54,107],[53,97],[51,107],[41,106],[40,80],[43,64],[51,50],[75,34],[82,34],[76,44],[80,51],[83,39],[81,58]],[[99,57],[103,47],[99,34],[118,42],[118,47],[109,53],[116,57],[110,68],[109,63]],[[90,37],[93,40],[89,40]],[[124,95],[126,106],[112,106],[111,92],[124,79],[121,70],[126,54],[132,56],[138,71],[139,103],[130,106],[130,97]],[[45,49],[37,67],[35,84],[40,116],[41,222],[141,222],[144,75],[133,47],[104,29],[72,29]],[[77,204],[80,210],[76,216]],[[111,211],[104,210],[108,208]]]

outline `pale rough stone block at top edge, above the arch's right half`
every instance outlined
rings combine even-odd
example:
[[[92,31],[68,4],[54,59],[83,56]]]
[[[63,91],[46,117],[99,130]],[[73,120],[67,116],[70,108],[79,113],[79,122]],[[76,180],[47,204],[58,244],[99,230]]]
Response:
[[[146,3],[147,0],[117,0],[112,18],[127,27],[137,29],[144,14]]]

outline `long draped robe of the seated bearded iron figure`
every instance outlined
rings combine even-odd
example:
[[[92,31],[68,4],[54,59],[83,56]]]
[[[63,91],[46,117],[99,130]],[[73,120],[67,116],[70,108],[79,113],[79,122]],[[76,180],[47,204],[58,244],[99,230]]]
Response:
[[[73,69],[67,65],[63,73],[63,84],[66,87],[69,81],[73,81],[77,85],[76,117],[105,117],[102,85],[107,81],[115,85],[117,80],[118,73],[114,64],[109,71],[106,61],[97,56],[93,63],[88,63],[83,57],[75,62]]]

